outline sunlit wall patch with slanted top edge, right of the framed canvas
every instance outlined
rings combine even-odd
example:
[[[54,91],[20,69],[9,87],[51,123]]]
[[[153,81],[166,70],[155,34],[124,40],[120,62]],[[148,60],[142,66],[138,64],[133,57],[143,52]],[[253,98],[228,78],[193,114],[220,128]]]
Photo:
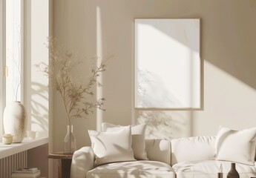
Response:
[[[220,125],[255,126],[255,88],[208,61],[204,61],[204,106],[203,111],[193,112],[194,135],[216,134]]]

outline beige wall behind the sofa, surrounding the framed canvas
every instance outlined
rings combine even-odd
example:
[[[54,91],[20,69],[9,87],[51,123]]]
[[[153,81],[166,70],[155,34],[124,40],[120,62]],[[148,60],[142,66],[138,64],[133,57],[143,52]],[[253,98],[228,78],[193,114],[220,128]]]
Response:
[[[255,17],[254,0],[55,0],[53,34],[59,45],[86,59],[114,54],[102,77],[107,99],[103,122],[129,125],[136,122],[134,19],[200,18],[204,107],[188,111],[186,125],[188,135],[214,135],[219,125],[256,126]],[[85,62],[76,74],[86,79],[91,63]],[[53,100],[53,150],[61,151],[68,122],[57,93]],[[99,128],[96,117],[94,113],[73,123],[78,148],[90,145],[87,130]]]

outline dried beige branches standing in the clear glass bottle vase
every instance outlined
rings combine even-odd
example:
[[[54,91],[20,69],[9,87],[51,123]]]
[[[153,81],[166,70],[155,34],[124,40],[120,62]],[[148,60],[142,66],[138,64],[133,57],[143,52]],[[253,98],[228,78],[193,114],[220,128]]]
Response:
[[[77,79],[70,75],[73,70],[78,67],[82,61],[76,59],[73,53],[65,52],[61,53],[54,43],[56,39],[49,38],[47,47],[50,53],[50,65],[39,63],[36,67],[48,76],[53,88],[60,94],[65,106],[65,112],[68,119],[68,139],[72,139],[72,122],[76,118],[87,118],[90,113],[93,113],[95,109],[103,110],[102,108],[105,98],[100,98],[95,102],[89,102],[88,96],[93,96],[92,87],[97,83],[97,77],[100,73],[106,70],[107,59],[102,60],[99,66],[94,67],[91,70],[91,75],[88,77],[88,82],[83,83],[81,79]],[[97,59],[97,57],[93,57]],[[98,85],[100,85],[98,83]],[[67,137],[66,136],[66,137]],[[70,141],[70,140],[69,140]],[[68,145],[68,151],[66,153],[72,153],[76,150],[76,143],[74,145]],[[74,148],[73,148],[74,147]]]

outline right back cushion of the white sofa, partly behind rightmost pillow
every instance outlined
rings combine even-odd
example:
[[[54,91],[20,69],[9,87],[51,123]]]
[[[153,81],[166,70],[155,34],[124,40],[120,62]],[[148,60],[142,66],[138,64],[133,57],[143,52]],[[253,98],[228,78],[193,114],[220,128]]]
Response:
[[[215,136],[194,136],[171,140],[171,165],[214,159]]]

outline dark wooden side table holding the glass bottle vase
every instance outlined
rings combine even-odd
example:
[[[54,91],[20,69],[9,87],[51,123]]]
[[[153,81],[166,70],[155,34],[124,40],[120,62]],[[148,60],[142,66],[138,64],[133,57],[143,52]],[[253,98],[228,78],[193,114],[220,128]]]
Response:
[[[58,159],[58,177],[70,178],[70,166],[73,154],[64,154],[63,152],[54,152],[48,154],[50,159]]]

